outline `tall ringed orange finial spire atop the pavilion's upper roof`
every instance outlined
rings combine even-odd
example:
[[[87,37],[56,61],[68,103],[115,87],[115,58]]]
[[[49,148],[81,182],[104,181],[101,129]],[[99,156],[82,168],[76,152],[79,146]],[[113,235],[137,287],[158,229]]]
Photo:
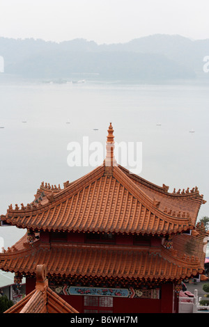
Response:
[[[116,159],[114,157],[114,147],[115,147],[115,143],[114,143],[114,129],[111,125],[111,122],[109,123],[109,129],[108,131],[108,135],[107,135],[107,142],[106,142],[106,158],[105,158],[105,167],[106,169],[106,173],[108,170],[108,173],[111,173],[111,167],[112,166],[117,166],[116,163]]]

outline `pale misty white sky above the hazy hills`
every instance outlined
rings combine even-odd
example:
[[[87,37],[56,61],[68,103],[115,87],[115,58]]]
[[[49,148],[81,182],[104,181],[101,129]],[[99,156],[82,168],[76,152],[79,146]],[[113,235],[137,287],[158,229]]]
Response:
[[[98,44],[155,33],[209,38],[208,0],[0,0],[0,36]]]

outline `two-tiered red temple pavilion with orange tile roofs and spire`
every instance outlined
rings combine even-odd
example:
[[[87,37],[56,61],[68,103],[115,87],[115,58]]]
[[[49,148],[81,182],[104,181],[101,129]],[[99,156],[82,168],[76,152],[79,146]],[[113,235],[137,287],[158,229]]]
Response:
[[[1,224],[26,234],[0,254],[0,269],[36,289],[45,265],[49,288],[77,312],[178,312],[181,282],[203,273],[206,231],[196,225],[197,187],[169,192],[130,173],[114,158],[64,182],[42,182],[31,203],[9,206]]]

